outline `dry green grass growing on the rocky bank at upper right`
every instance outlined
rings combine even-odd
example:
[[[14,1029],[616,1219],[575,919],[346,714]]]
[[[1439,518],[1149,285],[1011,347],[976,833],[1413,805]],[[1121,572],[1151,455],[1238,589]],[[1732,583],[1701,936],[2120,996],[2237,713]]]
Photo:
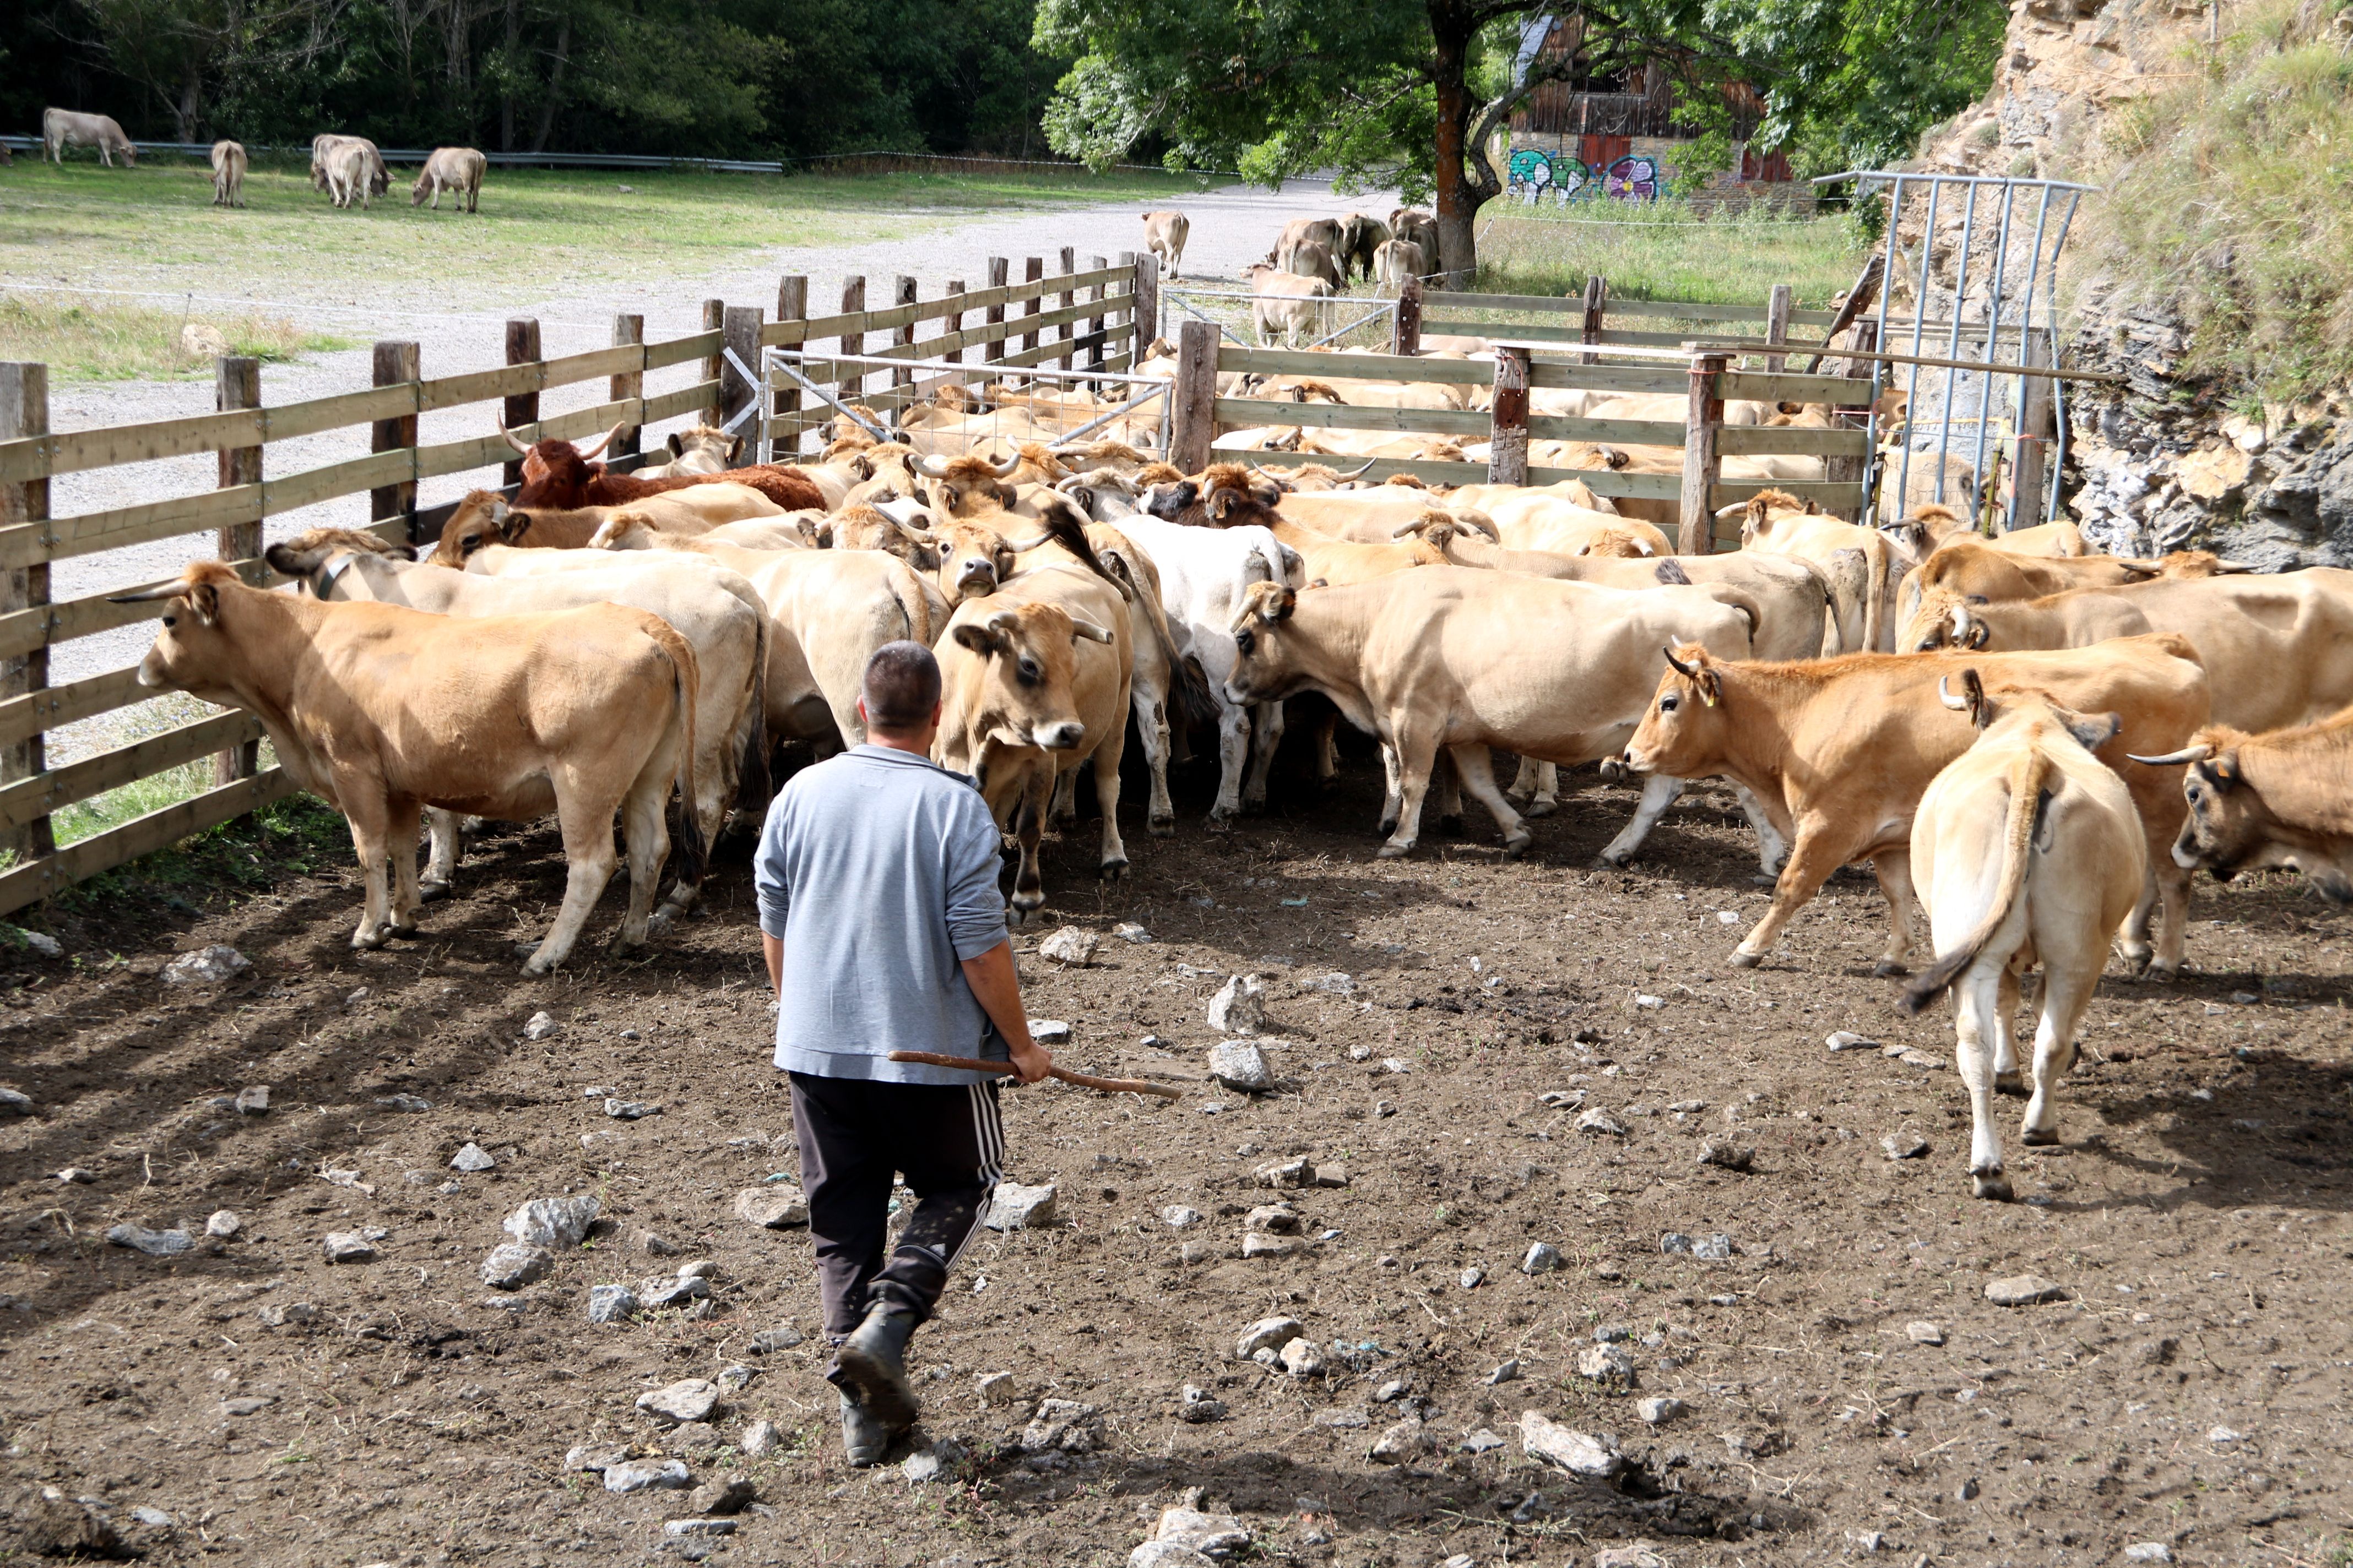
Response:
[[[2087,249],[2115,303],[2188,317],[2191,374],[2285,402],[2353,378],[2353,54],[2325,5],[2226,16],[2104,127]]]

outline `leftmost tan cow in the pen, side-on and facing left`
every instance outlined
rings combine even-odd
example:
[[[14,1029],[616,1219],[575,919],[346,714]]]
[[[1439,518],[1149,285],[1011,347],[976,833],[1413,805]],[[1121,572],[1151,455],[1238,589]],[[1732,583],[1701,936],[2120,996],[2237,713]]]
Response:
[[[661,616],[591,604],[454,621],[264,592],[219,562],[118,602],[141,599],[169,604],[139,684],[249,710],[287,776],[351,820],[367,877],[353,947],[416,931],[426,806],[508,820],[555,811],[562,823],[565,900],[527,976],[569,957],[612,882],[619,811],[628,910],[616,945],[645,943],[671,853],[671,785],[694,799],[701,696],[694,649]],[[701,877],[692,811],[678,820],[678,858],[680,875]]]

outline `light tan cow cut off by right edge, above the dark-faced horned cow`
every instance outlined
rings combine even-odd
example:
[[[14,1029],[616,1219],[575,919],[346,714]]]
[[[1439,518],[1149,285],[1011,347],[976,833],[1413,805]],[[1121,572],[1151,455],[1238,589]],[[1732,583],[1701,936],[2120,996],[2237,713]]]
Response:
[[[1937,649],[2082,649],[2167,630],[2198,646],[2214,682],[2214,722],[2264,731],[2311,724],[2353,703],[2353,571],[2158,578],[2045,599],[1962,604],[1922,595],[1920,642]]]

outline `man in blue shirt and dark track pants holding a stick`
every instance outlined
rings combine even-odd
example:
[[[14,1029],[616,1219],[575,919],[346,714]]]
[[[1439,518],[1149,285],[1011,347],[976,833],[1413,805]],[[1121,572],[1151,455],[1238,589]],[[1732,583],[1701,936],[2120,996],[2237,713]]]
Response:
[[[906,1340],[981,1229],[1005,1152],[995,1079],[889,1053],[1000,1060],[1024,1084],[1052,1063],[1021,1011],[1002,835],[972,780],[929,759],[939,712],[932,651],[875,649],[866,745],[776,795],[753,860],[852,1465],[880,1462],[918,1415]],[[894,1171],[915,1211],[885,1260]]]

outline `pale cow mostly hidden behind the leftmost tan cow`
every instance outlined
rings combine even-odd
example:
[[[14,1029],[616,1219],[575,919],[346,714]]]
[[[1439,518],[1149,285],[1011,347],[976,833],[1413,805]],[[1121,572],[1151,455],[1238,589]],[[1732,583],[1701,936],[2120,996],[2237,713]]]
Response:
[[[525,616],[581,604],[654,611],[694,649],[701,675],[701,705],[694,715],[694,780],[701,795],[685,802],[685,809],[701,823],[706,844],[715,844],[727,825],[729,802],[744,811],[767,811],[767,607],[736,574],[689,555],[664,555],[614,562],[605,571],[496,578],[416,564],[405,545],[353,529],[308,529],[271,545],[266,557],[278,574],[299,581],[318,599],[402,604],[433,616]],[[426,811],[426,820],[433,851],[419,893],[438,898],[456,877],[459,818],[435,806]],[[699,898],[701,877],[682,872],[654,912],[654,924],[692,910]]]

